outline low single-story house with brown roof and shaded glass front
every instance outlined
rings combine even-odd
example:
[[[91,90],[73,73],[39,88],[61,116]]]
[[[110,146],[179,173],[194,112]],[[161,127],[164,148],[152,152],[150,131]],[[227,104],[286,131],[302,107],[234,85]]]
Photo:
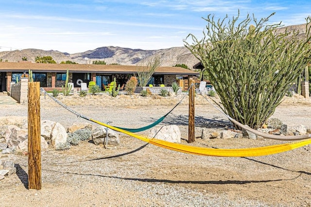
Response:
[[[66,72],[69,70],[69,82],[74,87],[81,87],[82,82],[95,81],[103,89],[116,78],[117,84],[126,81],[137,73],[135,65],[100,65],[100,64],[38,64],[30,62],[9,63],[0,62],[0,92],[10,91],[11,82],[20,80],[23,74],[32,70],[34,81],[40,81],[40,87],[45,90],[59,88],[65,85]],[[148,84],[170,86],[177,77],[187,76],[188,79],[199,73],[182,67],[158,67]]]

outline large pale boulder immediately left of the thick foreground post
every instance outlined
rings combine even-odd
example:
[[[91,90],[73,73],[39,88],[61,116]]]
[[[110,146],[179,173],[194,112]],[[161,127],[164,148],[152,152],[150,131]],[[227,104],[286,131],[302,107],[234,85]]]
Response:
[[[21,129],[15,125],[9,125],[5,134],[5,140],[8,147],[17,146],[28,139],[28,130]]]

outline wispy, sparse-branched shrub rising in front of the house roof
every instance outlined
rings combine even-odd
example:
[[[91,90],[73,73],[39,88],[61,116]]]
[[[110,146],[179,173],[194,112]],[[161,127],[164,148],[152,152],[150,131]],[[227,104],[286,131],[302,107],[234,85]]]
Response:
[[[136,71],[139,86],[146,86],[154,74],[156,68],[158,68],[160,65],[161,59],[158,56],[148,60],[146,63],[138,63],[136,66]]]

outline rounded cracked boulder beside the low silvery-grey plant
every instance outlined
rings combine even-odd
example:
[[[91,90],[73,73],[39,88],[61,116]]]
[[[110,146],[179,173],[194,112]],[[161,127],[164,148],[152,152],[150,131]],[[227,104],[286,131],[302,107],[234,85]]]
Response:
[[[94,144],[104,144],[106,141],[106,127],[99,126],[92,130],[92,140]],[[117,132],[108,129],[108,145],[116,146],[120,144],[120,138]]]

